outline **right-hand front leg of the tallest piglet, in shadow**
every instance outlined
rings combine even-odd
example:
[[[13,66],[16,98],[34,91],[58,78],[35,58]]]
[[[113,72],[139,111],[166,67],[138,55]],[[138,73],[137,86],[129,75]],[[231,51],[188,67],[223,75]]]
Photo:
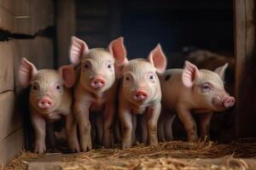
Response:
[[[113,147],[113,115],[114,115],[115,106],[112,104],[107,104],[105,106],[105,111],[103,115],[103,145],[106,148]]]

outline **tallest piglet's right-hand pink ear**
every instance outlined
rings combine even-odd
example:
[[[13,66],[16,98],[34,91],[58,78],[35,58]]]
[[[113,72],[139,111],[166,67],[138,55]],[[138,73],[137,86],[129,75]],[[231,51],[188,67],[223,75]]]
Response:
[[[128,60],[126,58],[126,49],[124,45],[124,37],[119,37],[108,45],[108,50],[115,59],[116,65],[124,65]]]

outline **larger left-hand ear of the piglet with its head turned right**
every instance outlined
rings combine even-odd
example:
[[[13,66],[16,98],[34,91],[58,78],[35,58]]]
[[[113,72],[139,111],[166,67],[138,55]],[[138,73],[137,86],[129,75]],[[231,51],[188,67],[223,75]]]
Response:
[[[195,65],[190,63],[189,61],[185,61],[182,80],[183,84],[187,88],[191,88],[195,81],[196,77],[199,77],[200,73]]]

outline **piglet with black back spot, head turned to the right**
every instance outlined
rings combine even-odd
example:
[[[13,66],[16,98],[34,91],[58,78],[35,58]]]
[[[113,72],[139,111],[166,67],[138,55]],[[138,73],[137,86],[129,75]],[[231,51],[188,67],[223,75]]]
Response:
[[[170,69],[160,75],[163,111],[160,118],[160,139],[172,139],[175,112],[183,122],[189,141],[198,139],[192,112],[200,113],[201,137],[209,136],[213,111],[225,111],[235,105],[235,98],[224,89],[224,71],[228,64],[215,71],[198,70],[185,61],[184,69]],[[162,132],[164,131],[164,132]]]

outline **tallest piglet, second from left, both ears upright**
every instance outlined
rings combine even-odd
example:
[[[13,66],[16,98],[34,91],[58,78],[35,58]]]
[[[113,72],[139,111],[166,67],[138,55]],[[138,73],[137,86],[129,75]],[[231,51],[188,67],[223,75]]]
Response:
[[[82,151],[91,150],[90,112],[102,112],[97,119],[99,139],[105,147],[113,146],[113,116],[116,108],[117,81],[120,62],[126,55],[123,37],[109,43],[108,48],[91,48],[77,37],[72,37],[70,60],[78,66],[78,81],[74,88],[74,113],[79,123]]]

